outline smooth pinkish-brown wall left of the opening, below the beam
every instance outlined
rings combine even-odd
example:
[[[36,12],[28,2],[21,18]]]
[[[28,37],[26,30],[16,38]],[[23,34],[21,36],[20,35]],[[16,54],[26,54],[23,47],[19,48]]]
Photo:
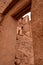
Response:
[[[14,65],[16,20],[6,16],[0,26],[0,65]]]

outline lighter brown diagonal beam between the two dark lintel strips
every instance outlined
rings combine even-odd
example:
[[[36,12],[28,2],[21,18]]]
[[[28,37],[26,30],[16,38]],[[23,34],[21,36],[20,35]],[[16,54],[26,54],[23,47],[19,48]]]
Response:
[[[20,0],[18,1],[15,6],[9,11],[9,15],[16,15],[21,10],[29,6],[31,3],[31,0]]]

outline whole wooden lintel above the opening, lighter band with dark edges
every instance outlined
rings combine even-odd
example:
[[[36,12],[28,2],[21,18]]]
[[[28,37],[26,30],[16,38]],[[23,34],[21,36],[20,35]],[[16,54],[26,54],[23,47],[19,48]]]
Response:
[[[13,2],[9,4],[9,7],[3,12],[3,15],[8,14],[19,19],[30,11],[31,2],[31,0],[13,0]]]

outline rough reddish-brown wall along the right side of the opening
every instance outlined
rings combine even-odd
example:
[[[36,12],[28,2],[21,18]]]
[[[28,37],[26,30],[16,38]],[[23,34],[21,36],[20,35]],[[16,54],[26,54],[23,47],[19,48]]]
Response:
[[[32,34],[35,65],[43,65],[43,0],[32,0]]]

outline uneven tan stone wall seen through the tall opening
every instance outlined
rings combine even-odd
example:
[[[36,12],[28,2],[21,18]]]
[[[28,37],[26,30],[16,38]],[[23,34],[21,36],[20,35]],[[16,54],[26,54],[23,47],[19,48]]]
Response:
[[[32,43],[31,24],[25,17],[23,24],[23,35],[17,35],[15,62],[18,65],[34,65],[34,52]],[[27,27],[28,25],[28,27]],[[27,29],[28,28],[28,29]]]

